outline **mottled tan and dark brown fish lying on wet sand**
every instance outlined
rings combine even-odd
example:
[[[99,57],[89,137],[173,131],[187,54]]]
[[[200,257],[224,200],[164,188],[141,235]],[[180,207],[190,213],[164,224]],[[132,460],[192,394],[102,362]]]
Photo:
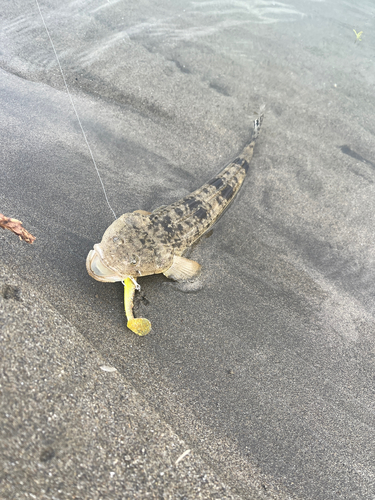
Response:
[[[254,121],[251,141],[242,153],[202,187],[153,213],[142,210],[127,213],[111,224],[101,243],[88,256],[89,274],[99,281],[158,273],[178,279],[177,274],[168,270],[173,269],[176,257],[184,255],[215,224],[235,198],[249,169],[262,121],[261,114]],[[94,252],[100,255],[97,260],[106,270],[104,274],[94,272],[97,269],[92,264]]]

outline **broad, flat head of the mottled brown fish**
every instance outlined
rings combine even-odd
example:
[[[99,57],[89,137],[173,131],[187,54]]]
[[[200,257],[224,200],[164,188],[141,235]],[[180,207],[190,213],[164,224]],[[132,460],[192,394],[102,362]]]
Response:
[[[97,281],[116,282],[161,273],[171,265],[152,238],[153,226],[147,215],[126,213],[105,231],[86,259],[89,275]],[[159,250],[158,250],[159,248]]]

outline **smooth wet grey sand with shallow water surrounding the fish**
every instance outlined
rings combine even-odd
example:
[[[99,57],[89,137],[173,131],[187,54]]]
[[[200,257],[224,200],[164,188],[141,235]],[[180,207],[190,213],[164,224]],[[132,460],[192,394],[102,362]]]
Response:
[[[142,280],[153,330],[137,338],[122,286],[87,276],[112,215],[36,6],[13,3],[1,18],[0,207],[37,241],[0,233],[4,265],[233,494],[372,499],[372,3],[41,8],[118,215],[199,187],[262,103],[266,117],[236,203],[192,255],[203,287]]]

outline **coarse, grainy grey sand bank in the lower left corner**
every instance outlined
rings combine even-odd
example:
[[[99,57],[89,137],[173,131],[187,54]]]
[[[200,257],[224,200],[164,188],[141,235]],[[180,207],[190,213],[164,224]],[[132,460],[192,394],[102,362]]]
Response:
[[[240,498],[32,287],[0,290],[1,498]]]

